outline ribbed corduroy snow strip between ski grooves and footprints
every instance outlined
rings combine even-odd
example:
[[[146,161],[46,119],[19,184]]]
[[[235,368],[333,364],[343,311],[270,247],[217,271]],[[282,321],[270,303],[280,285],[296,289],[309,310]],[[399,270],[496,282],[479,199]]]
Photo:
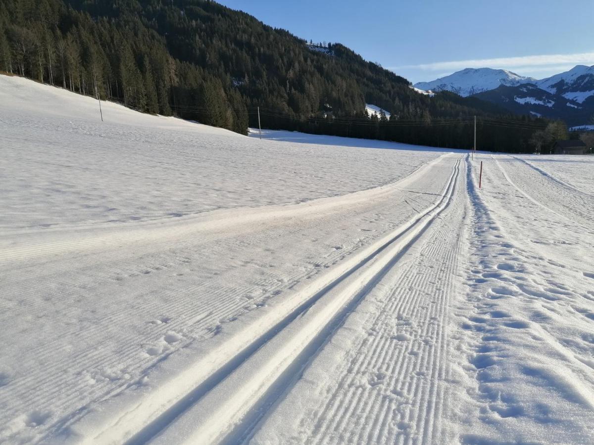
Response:
[[[370,288],[253,443],[435,443],[448,303],[460,275],[464,164],[440,215]]]

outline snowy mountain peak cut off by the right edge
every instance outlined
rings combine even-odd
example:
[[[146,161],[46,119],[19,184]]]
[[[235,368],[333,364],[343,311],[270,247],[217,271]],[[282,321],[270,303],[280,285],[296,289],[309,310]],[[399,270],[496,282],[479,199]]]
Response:
[[[583,103],[594,96],[594,65],[577,65],[569,71],[539,80],[535,85],[549,93]]]

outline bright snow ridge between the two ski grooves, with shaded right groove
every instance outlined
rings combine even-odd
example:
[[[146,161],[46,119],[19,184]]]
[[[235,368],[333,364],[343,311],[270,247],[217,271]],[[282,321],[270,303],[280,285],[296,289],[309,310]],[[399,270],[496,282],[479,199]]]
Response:
[[[403,249],[447,206],[458,176],[458,165],[456,163],[440,202],[397,228],[389,234],[388,240],[381,240],[370,255],[362,260],[356,258],[353,269],[318,291],[312,306],[303,307],[283,330],[267,339],[241,367],[233,370],[225,382],[212,389],[204,400],[186,409],[183,417],[176,418],[165,433],[157,437],[156,443],[211,443],[223,438],[236,443],[249,436],[254,422],[330,338],[346,314],[372,288],[380,285]],[[189,433],[192,429],[195,431]]]

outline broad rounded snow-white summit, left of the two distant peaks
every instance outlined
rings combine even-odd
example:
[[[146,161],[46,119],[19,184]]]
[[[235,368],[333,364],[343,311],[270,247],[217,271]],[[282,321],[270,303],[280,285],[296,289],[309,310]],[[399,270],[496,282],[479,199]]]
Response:
[[[452,91],[466,97],[494,90],[500,85],[513,87],[535,81],[535,78],[523,77],[507,69],[465,68],[431,82],[417,82],[414,86],[425,91]]]

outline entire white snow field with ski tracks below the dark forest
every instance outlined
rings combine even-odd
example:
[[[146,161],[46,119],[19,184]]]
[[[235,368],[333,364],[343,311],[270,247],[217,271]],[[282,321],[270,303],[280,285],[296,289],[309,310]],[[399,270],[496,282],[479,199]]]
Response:
[[[592,443],[594,157],[102,107],[0,76],[1,443]]]

